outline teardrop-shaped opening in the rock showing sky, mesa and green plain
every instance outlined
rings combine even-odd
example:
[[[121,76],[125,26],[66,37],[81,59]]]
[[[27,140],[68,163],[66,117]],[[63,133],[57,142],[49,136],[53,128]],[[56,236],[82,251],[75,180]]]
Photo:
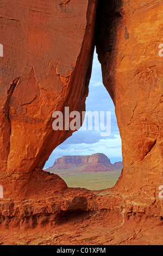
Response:
[[[55,148],[45,169],[58,174],[68,187],[99,190],[113,187],[122,168],[115,106],[103,85],[101,64],[95,51],[83,126]]]

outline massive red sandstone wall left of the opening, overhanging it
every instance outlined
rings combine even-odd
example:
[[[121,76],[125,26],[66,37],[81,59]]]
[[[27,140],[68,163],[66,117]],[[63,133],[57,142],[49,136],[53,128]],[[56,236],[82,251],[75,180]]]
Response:
[[[72,133],[54,132],[52,113],[65,106],[85,110],[97,1],[14,0],[0,5],[0,184],[4,198],[23,197],[29,181],[40,179],[39,170],[54,148]],[[60,190],[66,187],[61,180],[59,185]]]

